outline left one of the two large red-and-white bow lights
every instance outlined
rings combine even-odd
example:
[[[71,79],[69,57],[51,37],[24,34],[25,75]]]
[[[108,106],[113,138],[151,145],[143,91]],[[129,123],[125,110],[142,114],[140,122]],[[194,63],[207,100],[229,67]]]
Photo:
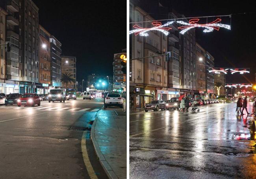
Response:
[[[157,30],[162,32],[164,35],[168,35],[169,32],[168,30],[171,30],[172,28],[167,28],[166,26],[169,26],[170,24],[173,24],[174,21],[171,22],[167,22],[165,24],[162,25],[161,22],[152,22],[153,26],[152,28],[142,28],[138,25],[134,25],[133,27],[135,28],[135,30],[131,30],[129,31],[129,34],[134,33],[135,35],[140,35],[140,36],[148,36],[148,31],[152,31],[152,30]]]

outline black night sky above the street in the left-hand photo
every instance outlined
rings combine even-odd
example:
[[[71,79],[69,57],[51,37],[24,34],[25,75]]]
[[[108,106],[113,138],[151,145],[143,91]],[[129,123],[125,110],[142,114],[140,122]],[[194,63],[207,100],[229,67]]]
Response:
[[[96,73],[113,74],[115,53],[126,48],[125,0],[33,0],[39,23],[76,56],[77,81]]]

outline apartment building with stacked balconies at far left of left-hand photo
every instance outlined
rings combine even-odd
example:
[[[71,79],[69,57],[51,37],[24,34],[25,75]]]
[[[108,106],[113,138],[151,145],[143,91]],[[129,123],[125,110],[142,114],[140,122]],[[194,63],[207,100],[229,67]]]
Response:
[[[22,64],[19,61],[19,43],[20,31],[19,24],[22,20],[20,16],[19,0],[1,0],[0,7],[7,12],[6,18],[3,17],[3,22],[6,26],[6,41],[10,42],[11,51],[6,53],[6,80],[2,83],[6,94],[19,92],[19,80],[22,78]],[[3,13],[4,11],[2,11]],[[4,20],[6,20],[4,22]],[[20,34],[20,35],[19,35]],[[4,46],[2,46],[3,48]],[[4,52],[5,53],[5,52]]]

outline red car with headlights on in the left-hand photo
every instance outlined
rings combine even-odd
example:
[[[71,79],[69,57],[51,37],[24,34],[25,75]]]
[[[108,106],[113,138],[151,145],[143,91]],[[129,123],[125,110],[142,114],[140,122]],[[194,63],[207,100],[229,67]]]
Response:
[[[18,100],[17,105],[20,107],[21,105],[28,105],[28,106],[40,106],[41,101],[38,94],[26,93],[23,94]]]

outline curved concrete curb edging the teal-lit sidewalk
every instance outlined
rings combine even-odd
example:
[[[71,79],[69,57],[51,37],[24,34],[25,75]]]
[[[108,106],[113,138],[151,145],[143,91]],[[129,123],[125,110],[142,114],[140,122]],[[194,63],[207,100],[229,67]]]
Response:
[[[104,155],[100,151],[100,147],[98,146],[98,142],[96,141],[94,133],[95,133],[95,125],[96,125],[97,119],[98,119],[98,117],[96,114],[95,120],[91,127],[91,140],[93,142],[93,146],[94,146],[96,155],[98,156],[100,164],[102,165],[102,167],[105,170],[106,174],[108,175],[109,179],[118,179],[117,175],[115,174],[115,172],[113,172],[111,166],[108,164]]]

